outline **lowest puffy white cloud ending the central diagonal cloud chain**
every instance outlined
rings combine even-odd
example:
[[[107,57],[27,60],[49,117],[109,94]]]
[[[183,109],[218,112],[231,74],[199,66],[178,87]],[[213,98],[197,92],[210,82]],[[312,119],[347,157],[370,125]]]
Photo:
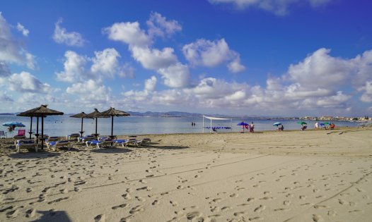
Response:
[[[190,84],[190,70],[186,65],[176,63],[175,65],[158,70],[168,87],[188,87]]]

